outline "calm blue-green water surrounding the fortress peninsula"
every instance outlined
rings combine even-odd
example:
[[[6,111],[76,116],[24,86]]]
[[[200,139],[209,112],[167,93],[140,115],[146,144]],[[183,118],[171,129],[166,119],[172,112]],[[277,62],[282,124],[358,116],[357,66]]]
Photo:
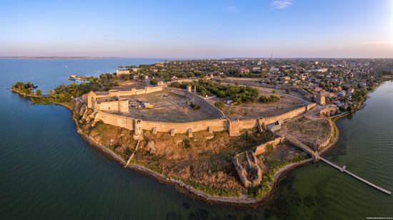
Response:
[[[31,105],[9,88],[31,81],[46,92],[67,77],[156,60],[0,59],[0,219],[365,219],[393,217],[393,197],[325,164],[289,173],[272,201],[235,209],[194,201],[87,145],[70,112]],[[67,66],[67,68],[65,67]],[[363,110],[338,122],[339,145],[326,155],[349,171],[393,189],[393,83],[370,93]]]

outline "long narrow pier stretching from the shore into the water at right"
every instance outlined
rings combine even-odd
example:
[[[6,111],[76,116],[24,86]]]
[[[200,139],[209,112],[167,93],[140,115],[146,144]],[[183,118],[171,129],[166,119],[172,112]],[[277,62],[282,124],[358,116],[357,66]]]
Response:
[[[308,154],[310,154],[314,158],[314,161],[322,160],[323,162],[329,164],[330,166],[332,166],[336,169],[339,169],[340,172],[347,173],[347,174],[351,175],[352,177],[358,179],[360,182],[364,182],[365,184],[368,184],[369,186],[374,187],[375,189],[378,189],[379,191],[384,192],[386,194],[389,194],[389,195],[392,194],[392,192],[390,192],[389,190],[386,190],[382,187],[378,187],[376,184],[372,184],[371,182],[368,182],[366,179],[362,179],[361,177],[358,177],[357,175],[353,174],[352,172],[349,172],[345,166],[339,167],[336,164],[330,162],[329,160],[324,159],[323,157],[319,156],[318,152],[314,152],[314,150],[312,150],[307,145],[304,145],[296,137],[294,137],[292,135],[286,135],[285,139],[287,141],[289,141],[290,143],[292,143],[292,145],[295,145],[295,146],[299,147],[300,149],[304,150],[305,152],[307,152]]]

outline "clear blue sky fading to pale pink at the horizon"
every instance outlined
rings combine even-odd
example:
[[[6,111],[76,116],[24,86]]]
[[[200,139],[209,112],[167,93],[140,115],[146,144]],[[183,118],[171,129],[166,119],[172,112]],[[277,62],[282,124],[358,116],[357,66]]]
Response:
[[[0,0],[0,56],[393,57],[393,0]]]

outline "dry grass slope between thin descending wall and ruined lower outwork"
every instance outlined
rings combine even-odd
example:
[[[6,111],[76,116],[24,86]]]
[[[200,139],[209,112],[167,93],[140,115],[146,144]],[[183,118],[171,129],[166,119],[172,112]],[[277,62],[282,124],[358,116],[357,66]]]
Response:
[[[146,132],[141,143],[145,147],[137,152],[135,160],[209,194],[237,196],[244,187],[237,179],[232,157],[271,139],[270,133],[256,130],[239,137],[229,137],[227,132],[197,132],[190,139],[186,135],[170,137],[166,133]],[[151,140],[155,143],[154,154],[146,149]]]

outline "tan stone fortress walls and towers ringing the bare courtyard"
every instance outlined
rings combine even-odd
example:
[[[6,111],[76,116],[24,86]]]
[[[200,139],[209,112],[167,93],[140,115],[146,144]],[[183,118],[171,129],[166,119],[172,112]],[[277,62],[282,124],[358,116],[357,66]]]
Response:
[[[141,120],[139,118],[126,116],[129,113],[129,98],[134,95],[156,93],[164,91],[175,95],[182,95],[185,98],[199,105],[201,108],[214,116],[214,119],[195,120],[191,122],[164,122]],[[197,95],[196,90],[191,86],[187,90],[168,88],[166,85],[155,87],[146,87],[144,89],[131,89],[128,91],[109,90],[109,92],[93,92],[84,95],[87,99],[87,108],[94,110],[94,121],[102,121],[105,124],[124,127],[127,130],[134,131],[134,138],[141,136],[144,130],[156,132],[169,132],[171,136],[176,134],[187,134],[192,137],[193,132],[209,131],[222,132],[227,131],[229,136],[240,135],[241,130],[252,129],[257,127],[259,130],[267,130],[269,125],[277,124],[282,120],[289,120],[292,117],[303,114],[314,108],[317,103],[309,103],[299,108],[290,110],[281,115],[272,117],[258,117],[246,120],[229,120],[224,113],[216,106],[209,103],[202,96]]]

